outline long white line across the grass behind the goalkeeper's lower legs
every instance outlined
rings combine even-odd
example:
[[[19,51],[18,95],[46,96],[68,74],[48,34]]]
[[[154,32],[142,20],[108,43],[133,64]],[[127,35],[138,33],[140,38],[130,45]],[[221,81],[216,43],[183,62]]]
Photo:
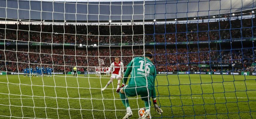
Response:
[[[57,97],[58,98],[58,97]],[[192,97],[192,98],[195,98],[195,99],[202,99],[200,97]],[[205,98],[208,98],[208,99],[213,99],[212,97],[205,97]],[[232,98],[232,99],[236,99],[236,97],[226,97],[226,98]],[[244,98],[244,97],[237,97],[239,99],[248,99],[248,98]],[[0,99],[55,99],[55,98],[0,98]],[[59,99],[67,99],[67,98],[59,98]],[[74,99],[74,98],[72,98]],[[103,99],[103,98],[76,98],[76,99]],[[114,99],[114,98],[104,98],[104,99]],[[115,99],[120,99],[120,98],[115,98]],[[128,98],[129,99],[129,98]],[[159,99],[191,99],[191,98],[159,98]],[[225,99],[224,97],[223,98],[216,98],[216,99]],[[255,98],[249,98],[249,99],[256,99]]]

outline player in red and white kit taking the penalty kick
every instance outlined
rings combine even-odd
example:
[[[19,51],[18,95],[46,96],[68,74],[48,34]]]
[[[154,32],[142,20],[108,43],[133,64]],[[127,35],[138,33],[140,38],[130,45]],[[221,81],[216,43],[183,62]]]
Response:
[[[111,73],[112,73],[111,78],[110,78],[109,82],[107,83],[107,85],[101,89],[102,91],[105,90],[106,87],[108,87],[109,84],[111,84],[115,78],[118,81],[117,90],[120,87],[121,78],[123,77],[123,74],[124,74],[124,64],[123,64],[123,62],[119,61],[119,57],[115,57],[115,62],[113,62],[110,65],[109,71],[111,71]]]

